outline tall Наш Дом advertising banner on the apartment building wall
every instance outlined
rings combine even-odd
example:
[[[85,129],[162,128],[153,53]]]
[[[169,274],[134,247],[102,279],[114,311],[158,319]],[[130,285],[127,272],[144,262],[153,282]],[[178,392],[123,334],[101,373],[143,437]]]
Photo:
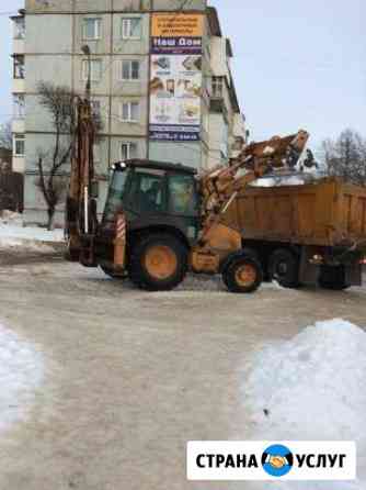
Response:
[[[199,14],[155,14],[151,37],[150,140],[199,141]]]

